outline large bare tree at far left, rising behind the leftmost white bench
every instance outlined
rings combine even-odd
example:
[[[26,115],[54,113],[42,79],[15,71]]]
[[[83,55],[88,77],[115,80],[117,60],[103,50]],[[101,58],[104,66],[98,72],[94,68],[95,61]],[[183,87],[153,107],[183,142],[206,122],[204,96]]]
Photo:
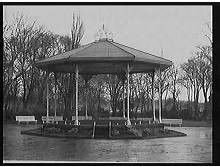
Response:
[[[20,83],[24,108],[35,86],[33,64],[39,51],[39,39],[44,33],[43,27],[37,27],[35,21],[29,23],[22,14],[18,14],[10,26],[10,36],[5,40],[8,46],[5,53],[8,53],[7,57],[13,57],[14,79]]]

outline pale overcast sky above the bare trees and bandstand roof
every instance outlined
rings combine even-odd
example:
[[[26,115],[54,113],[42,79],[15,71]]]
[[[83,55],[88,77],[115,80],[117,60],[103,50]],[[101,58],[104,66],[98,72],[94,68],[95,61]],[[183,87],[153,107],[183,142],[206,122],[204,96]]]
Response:
[[[208,43],[205,24],[212,25],[211,6],[4,6],[4,19],[10,22],[17,12],[61,35],[70,35],[72,13],[80,14],[82,44],[93,42],[105,24],[114,41],[158,56],[163,49],[163,57],[175,65],[187,61],[195,46]]]

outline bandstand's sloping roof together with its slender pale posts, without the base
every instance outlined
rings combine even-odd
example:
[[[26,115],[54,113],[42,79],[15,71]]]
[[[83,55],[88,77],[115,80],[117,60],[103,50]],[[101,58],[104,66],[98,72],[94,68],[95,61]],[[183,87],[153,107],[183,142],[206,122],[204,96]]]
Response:
[[[167,59],[119,44],[112,39],[101,38],[95,42],[83,45],[77,49],[57,54],[40,60],[36,63],[38,68],[49,73],[75,73],[75,125],[78,120],[78,80],[79,75],[97,74],[126,74],[127,79],[127,125],[131,125],[129,117],[129,75],[133,73],[153,73],[153,121],[156,120],[154,102],[154,73],[165,70],[173,63]],[[159,75],[160,76],[160,75]],[[160,81],[160,77],[159,77]],[[47,118],[49,117],[49,89],[47,79]],[[159,84],[159,92],[160,84]],[[160,93],[159,93],[160,95]],[[159,98],[160,100],[161,98]],[[159,122],[161,122],[161,103],[159,102]]]

